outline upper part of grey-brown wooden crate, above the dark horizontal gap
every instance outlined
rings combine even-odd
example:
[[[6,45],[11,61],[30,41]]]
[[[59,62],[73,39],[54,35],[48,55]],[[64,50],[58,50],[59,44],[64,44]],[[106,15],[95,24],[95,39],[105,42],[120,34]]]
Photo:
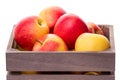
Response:
[[[7,71],[111,71],[115,70],[115,46],[112,25],[103,27],[110,49],[101,52],[33,52],[15,49],[13,33],[6,51]],[[77,79],[76,79],[77,80]],[[99,79],[98,79],[99,80]]]

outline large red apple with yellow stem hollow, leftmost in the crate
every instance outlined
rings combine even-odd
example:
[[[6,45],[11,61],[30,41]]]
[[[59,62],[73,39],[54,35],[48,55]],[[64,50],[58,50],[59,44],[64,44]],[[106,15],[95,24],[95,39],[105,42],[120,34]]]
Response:
[[[47,23],[38,16],[29,16],[15,25],[14,39],[22,49],[32,50],[37,39],[49,33]]]

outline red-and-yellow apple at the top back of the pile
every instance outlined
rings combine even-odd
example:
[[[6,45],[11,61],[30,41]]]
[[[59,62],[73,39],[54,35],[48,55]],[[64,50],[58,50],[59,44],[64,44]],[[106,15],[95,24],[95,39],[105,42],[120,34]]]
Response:
[[[65,10],[61,7],[49,6],[49,7],[44,8],[40,12],[39,16],[47,22],[50,28],[50,32],[53,32],[53,28],[54,28],[56,21],[58,20],[60,16],[62,16],[65,13],[66,13]]]

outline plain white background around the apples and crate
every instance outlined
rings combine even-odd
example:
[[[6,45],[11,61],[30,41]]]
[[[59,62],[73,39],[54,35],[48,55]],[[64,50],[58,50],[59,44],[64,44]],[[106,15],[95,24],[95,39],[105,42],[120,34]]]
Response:
[[[116,48],[116,80],[120,72],[120,9],[119,0],[0,0],[0,80],[6,80],[6,47],[13,25],[24,17],[38,15],[51,5],[79,15],[85,22],[114,26]]]

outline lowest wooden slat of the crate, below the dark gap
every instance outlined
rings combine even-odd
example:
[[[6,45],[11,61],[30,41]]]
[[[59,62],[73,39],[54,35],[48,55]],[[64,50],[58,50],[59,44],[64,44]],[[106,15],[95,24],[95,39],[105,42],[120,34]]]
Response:
[[[7,75],[7,80],[115,80],[114,75]]]

